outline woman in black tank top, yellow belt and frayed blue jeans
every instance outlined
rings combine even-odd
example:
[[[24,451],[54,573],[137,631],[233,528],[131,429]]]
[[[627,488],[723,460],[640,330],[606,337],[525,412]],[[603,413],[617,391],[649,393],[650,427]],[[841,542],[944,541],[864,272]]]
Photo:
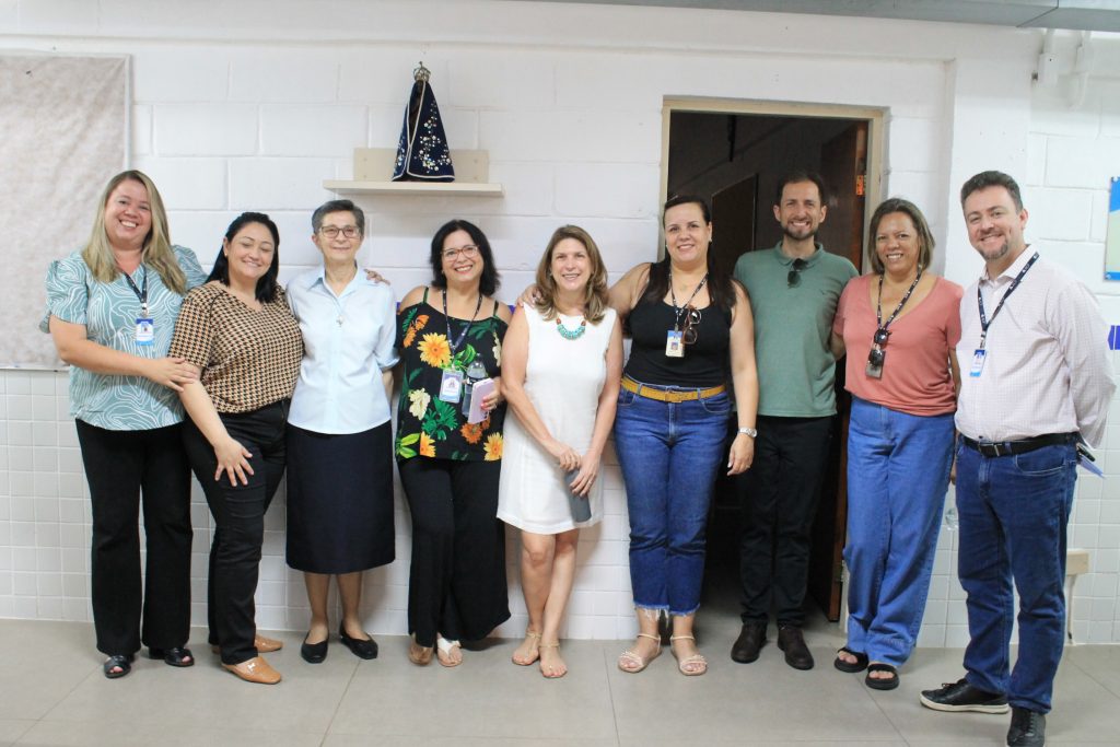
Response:
[[[708,664],[692,636],[704,562],[704,530],[717,469],[745,471],[754,457],[758,380],[746,291],[712,267],[711,216],[699,197],[665,203],[666,255],[610,289],[633,334],[615,418],[615,447],[631,522],[631,585],[640,633],[618,659],[641,672],[661,653],[659,620],[672,617],[682,674]],[[731,417],[738,435],[725,458]]]

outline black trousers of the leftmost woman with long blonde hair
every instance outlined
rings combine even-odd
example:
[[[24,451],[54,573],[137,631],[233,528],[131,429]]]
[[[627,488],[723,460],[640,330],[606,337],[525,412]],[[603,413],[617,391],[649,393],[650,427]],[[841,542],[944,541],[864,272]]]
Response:
[[[105,430],[76,421],[93,513],[97,651],[187,645],[190,635],[190,470],[180,426]],[[147,594],[140,580],[140,502]],[[141,627],[142,620],[142,627]]]

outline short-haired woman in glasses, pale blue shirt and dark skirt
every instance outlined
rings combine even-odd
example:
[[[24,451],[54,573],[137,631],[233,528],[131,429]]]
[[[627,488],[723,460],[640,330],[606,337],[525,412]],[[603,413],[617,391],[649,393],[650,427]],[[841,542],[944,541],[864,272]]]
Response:
[[[338,583],[339,641],[361,659],[377,644],[362,629],[362,571],[393,561],[389,398],[395,304],[357,271],[365,214],[348,199],[311,216],[323,265],[288,284],[304,361],[288,413],[288,564],[304,571],[311,624],[305,661],[327,656],[327,591]]]

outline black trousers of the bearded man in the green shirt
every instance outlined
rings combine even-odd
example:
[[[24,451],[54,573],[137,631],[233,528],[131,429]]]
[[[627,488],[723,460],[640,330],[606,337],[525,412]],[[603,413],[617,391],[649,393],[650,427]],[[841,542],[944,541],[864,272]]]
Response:
[[[743,622],[801,626],[813,516],[833,417],[758,418],[754,464],[739,479]]]

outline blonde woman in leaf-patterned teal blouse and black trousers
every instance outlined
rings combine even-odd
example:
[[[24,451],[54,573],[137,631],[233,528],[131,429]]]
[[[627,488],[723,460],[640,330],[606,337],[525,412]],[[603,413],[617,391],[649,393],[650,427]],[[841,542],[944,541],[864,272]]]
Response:
[[[141,643],[171,666],[195,663],[186,647],[190,469],[177,392],[197,374],[167,352],[183,296],[205,280],[194,253],[171,245],[164,203],[140,171],[110,179],[85,248],[47,272],[43,329],[71,364],[71,414],[93,514],[93,622],[109,679],[129,673]]]

